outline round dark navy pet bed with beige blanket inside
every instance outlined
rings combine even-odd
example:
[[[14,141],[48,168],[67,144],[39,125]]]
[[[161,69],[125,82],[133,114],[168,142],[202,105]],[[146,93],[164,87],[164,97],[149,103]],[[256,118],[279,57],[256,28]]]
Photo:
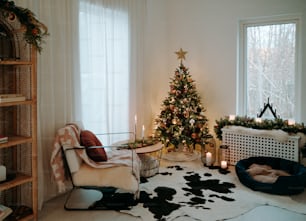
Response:
[[[250,172],[253,166],[258,166],[257,169],[259,168],[258,171],[260,172],[265,171],[261,174],[261,177],[254,176],[254,174],[258,175],[260,173],[258,171]],[[306,167],[286,159],[250,157],[238,161],[235,170],[240,182],[255,191],[292,195],[303,192],[306,186]]]

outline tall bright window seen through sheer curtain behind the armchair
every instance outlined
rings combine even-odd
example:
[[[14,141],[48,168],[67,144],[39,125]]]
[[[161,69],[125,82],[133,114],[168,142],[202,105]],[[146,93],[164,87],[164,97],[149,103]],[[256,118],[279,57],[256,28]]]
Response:
[[[81,1],[79,10],[80,118],[95,133],[129,131],[128,12],[113,1]]]

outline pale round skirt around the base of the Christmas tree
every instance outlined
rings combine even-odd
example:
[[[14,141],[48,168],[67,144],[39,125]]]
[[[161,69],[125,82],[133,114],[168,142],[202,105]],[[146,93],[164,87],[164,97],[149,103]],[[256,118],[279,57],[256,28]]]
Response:
[[[174,161],[174,162],[182,162],[182,161],[193,161],[200,158],[200,154],[196,151],[188,152],[188,151],[171,151],[167,153],[163,153],[162,158],[164,160]]]

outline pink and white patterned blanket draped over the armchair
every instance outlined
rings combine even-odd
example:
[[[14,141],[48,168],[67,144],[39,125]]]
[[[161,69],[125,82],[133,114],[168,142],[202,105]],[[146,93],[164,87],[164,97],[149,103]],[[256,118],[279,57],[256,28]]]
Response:
[[[59,193],[67,191],[71,186],[69,176],[65,173],[63,151],[73,147],[81,147],[80,133],[81,129],[77,124],[67,124],[60,128],[55,136],[50,163]],[[135,151],[119,150],[117,148],[111,148],[110,150],[106,148],[106,151],[108,160],[106,162],[95,162],[88,157],[85,148],[75,150],[78,157],[92,168],[132,167],[133,176],[139,182],[140,160]]]

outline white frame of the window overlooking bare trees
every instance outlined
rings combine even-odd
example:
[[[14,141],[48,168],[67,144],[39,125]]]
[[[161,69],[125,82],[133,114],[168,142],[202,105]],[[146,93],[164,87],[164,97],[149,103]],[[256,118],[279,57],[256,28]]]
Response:
[[[247,27],[273,24],[296,24],[296,50],[295,50],[295,113],[294,118],[301,120],[301,16],[300,15],[285,15],[272,16],[264,18],[251,18],[239,21],[238,35],[238,63],[237,63],[237,91],[236,91],[236,112],[238,115],[247,116]],[[272,101],[273,102],[273,101]],[[264,104],[262,104],[264,105]],[[261,107],[258,107],[260,111]],[[252,117],[252,116],[250,116]]]

